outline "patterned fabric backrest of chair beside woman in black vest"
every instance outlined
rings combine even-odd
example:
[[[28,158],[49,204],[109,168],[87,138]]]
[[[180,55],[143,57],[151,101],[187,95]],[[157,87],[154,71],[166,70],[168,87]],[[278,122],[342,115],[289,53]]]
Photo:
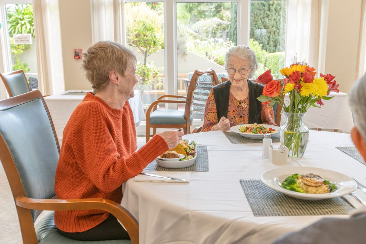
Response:
[[[188,74],[187,77],[190,77],[191,74]],[[204,72],[204,74],[198,78],[197,89],[194,91],[194,100],[193,100],[193,119],[201,119],[205,115],[205,106],[208,98],[208,94],[213,86],[219,84],[218,76],[224,77],[227,76],[227,73],[217,73],[212,69],[208,69]],[[184,80],[186,82],[186,87],[189,86],[189,80]]]

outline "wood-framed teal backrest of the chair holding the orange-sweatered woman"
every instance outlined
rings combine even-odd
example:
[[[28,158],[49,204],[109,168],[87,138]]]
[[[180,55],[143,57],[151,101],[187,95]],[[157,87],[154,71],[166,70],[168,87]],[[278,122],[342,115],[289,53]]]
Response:
[[[59,153],[55,128],[40,91],[0,101],[0,160],[14,198],[55,196]],[[17,211],[21,228],[37,218],[37,210],[17,207]]]

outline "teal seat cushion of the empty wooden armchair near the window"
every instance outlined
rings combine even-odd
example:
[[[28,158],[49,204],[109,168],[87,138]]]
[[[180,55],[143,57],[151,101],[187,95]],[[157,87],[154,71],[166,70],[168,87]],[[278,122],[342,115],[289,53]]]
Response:
[[[193,116],[189,116],[189,123],[192,123]],[[184,111],[178,109],[157,109],[150,113],[150,124],[186,124]]]

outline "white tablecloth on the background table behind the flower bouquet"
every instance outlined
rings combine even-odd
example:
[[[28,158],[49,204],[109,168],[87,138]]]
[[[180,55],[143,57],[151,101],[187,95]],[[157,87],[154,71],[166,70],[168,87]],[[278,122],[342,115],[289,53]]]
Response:
[[[310,107],[304,119],[308,128],[338,129],[341,132],[351,132],[353,119],[348,101],[347,93],[330,92],[329,96],[334,96],[330,100],[323,100],[321,108]],[[285,100],[289,101],[288,94]],[[287,105],[290,104],[287,102]],[[285,116],[281,116],[281,125],[285,124]]]

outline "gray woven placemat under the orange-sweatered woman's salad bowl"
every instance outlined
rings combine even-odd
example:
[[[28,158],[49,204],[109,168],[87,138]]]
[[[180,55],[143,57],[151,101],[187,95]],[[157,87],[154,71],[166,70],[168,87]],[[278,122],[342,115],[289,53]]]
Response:
[[[186,168],[171,169],[163,168],[159,166],[156,161],[152,161],[146,166],[143,171],[173,171],[173,170],[184,170],[184,171],[208,171],[208,154],[206,146],[197,146],[197,156],[196,161],[193,165]]]

